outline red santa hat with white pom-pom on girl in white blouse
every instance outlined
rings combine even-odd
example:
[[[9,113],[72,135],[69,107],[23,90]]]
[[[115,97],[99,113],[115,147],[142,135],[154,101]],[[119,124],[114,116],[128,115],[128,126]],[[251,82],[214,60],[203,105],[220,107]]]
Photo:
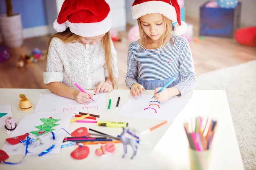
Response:
[[[53,27],[57,32],[70,31],[82,37],[107,33],[112,26],[110,7],[105,0],[65,0]]]

